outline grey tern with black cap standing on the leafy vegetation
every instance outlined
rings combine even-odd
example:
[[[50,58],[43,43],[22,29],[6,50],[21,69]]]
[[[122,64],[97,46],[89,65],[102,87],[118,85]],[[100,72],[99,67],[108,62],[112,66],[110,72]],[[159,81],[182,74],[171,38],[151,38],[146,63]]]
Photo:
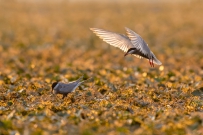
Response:
[[[81,83],[84,82],[82,81],[82,79],[83,76],[80,77],[78,80],[70,83],[54,82],[51,86],[52,92],[54,94],[62,94],[63,98],[65,98],[68,95],[68,93],[73,92]]]

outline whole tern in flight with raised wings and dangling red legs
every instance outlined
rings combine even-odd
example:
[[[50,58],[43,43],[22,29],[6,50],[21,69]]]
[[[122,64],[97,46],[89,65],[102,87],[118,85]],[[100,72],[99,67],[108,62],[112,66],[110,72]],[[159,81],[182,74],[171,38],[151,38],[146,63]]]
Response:
[[[149,60],[151,67],[154,67],[154,63],[157,65],[162,64],[140,35],[129,28],[125,29],[127,31],[127,36],[98,28],[90,28],[90,30],[103,39],[103,41],[126,52],[124,56],[133,54],[138,58],[146,58]]]

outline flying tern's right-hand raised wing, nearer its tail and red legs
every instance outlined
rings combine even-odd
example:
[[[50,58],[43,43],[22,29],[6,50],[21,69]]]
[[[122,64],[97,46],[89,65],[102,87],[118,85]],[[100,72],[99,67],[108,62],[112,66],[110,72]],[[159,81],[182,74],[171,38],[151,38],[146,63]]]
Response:
[[[142,53],[143,55],[151,57],[150,49],[148,45],[145,43],[145,41],[142,39],[142,37],[129,28],[125,29],[127,31],[128,37],[130,38],[133,44],[133,47],[138,49],[140,53]]]

